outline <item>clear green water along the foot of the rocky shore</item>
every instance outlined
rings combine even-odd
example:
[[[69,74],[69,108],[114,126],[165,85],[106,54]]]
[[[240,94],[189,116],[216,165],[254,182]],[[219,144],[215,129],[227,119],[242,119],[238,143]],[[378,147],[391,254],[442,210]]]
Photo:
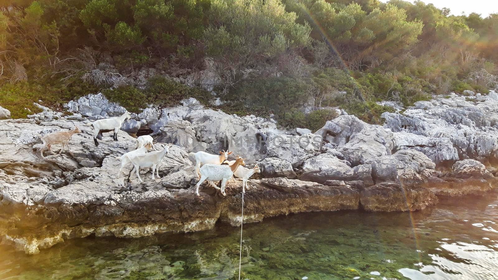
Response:
[[[250,203],[248,201],[247,203]],[[416,213],[308,213],[245,225],[242,279],[498,279],[498,194]],[[238,279],[240,228],[0,247],[0,279]]]

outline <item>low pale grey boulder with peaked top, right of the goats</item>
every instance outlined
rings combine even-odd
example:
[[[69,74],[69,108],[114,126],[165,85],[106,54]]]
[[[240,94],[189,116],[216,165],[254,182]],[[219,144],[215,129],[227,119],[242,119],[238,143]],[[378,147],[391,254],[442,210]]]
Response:
[[[370,164],[351,167],[348,161],[341,160],[330,153],[322,153],[307,159],[303,164],[303,173],[300,179],[319,183],[325,183],[329,180],[360,180],[366,186],[373,185]]]

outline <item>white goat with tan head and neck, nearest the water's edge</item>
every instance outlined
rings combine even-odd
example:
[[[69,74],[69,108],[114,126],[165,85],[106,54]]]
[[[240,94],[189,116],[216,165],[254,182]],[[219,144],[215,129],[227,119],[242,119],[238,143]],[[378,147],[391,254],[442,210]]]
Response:
[[[196,189],[195,189],[195,194],[199,195],[199,186],[205,181],[208,180],[209,183],[215,188],[221,190],[221,194],[224,196],[227,195],[225,193],[225,186],[227,183],[227,180],[232,178],[234,175],[234,172],[237,170],[239,165],[246,165],[246,162],[244,162],[244,158],[238,156],[237,159],[235,160],[235,163],[232,165],[218,165],[218,164],[212,164],[212,163],[206,163],[201,167],[201,179],[199,179],[199,182],[197,182]],[[217,187],[213,181],[220,181],[221,180],[221,188]]]

